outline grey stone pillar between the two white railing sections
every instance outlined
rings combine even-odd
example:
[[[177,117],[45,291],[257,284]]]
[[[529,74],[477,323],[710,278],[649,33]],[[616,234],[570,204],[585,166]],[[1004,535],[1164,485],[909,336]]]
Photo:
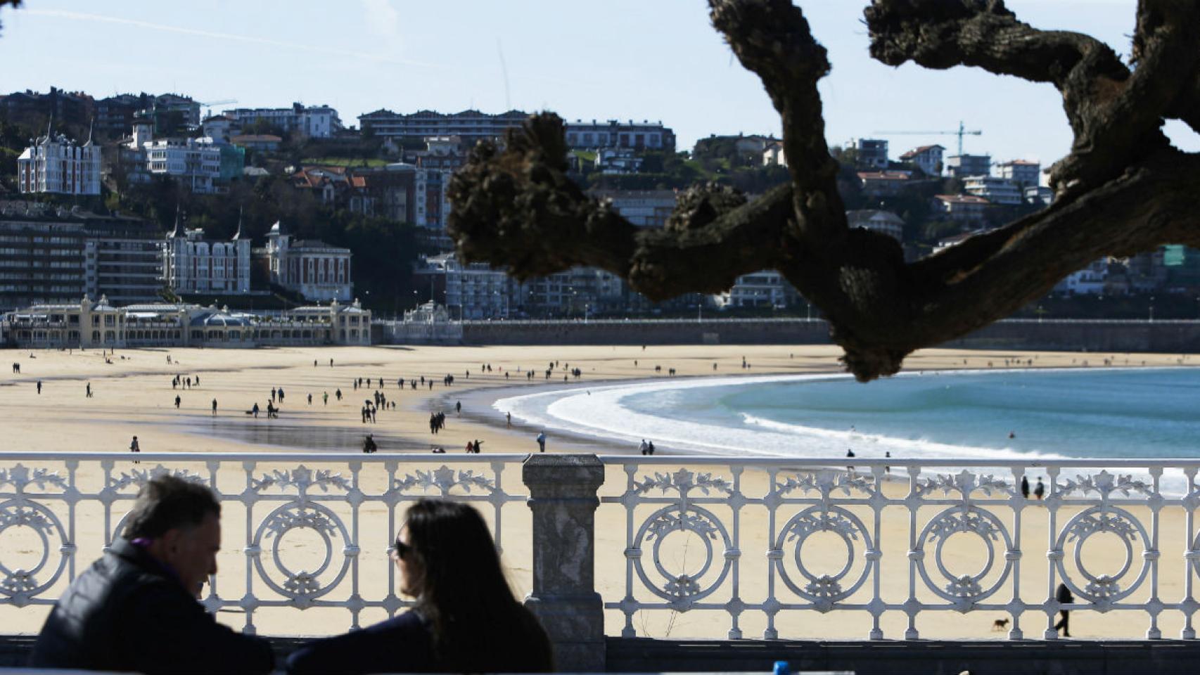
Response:
[[[550,634],[560,673],[604,671],[594,569],[604,464],[594,454],[530,454],[521,476],[533,511],[533,591],[524,604]]]

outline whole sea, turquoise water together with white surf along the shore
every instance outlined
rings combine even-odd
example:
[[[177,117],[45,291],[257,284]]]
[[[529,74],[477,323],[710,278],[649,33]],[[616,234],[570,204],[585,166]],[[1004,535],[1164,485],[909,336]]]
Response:
[[[547,429],[636,447],[797,458],[1200,458],[1200,368],[662,378],[499,399]]]

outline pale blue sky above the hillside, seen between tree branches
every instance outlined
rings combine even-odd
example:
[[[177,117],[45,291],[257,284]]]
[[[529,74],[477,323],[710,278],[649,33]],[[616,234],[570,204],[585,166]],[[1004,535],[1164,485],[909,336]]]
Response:
[[[893,158],[950,134],[996,162],[1067,153],[1046,84],[976,68],[884,66],[868,55],[866,0],[797,0],[829,50],[827,141],[887,138]],[[1086,32],[1129,53],[1136,0],[1008,0],[1037,28]],[[780,133],[758,79],[732,56],[704,0],[24,0],[0,11],[0,92],[52,85],[97,98],[186,94],[214,107],[328,103],[346,125],[386,108],[552,110],[568,120],[650,120],[680,150],[710,134]],[[13,65],[18,65],[13,67]],[[1169,122],[1180,147],[1200,135]]]

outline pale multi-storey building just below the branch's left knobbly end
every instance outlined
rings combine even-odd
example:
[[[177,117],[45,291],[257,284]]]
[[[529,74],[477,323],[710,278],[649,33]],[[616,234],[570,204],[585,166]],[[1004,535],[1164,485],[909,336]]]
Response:
[[[487,263],[463,264],[454,253],[416,263],[413,283],[418,295],[428,288],[430,301],[445,305],[454,319],[506,319],[516,307],[512,281]]]

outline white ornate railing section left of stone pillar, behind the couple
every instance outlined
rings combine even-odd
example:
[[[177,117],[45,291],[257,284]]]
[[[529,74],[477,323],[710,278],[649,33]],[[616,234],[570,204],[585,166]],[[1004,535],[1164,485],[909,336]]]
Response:
[[[365,609],[391,615],[409,604],[395,592],[395,568],[388,558],[398,528],[397,508],[422,496],[475,502],[503,547],[504,506],[526,500],[520,466],[514,471],[511,465],[524,458],[4,452],[0,538],[13,540],[0,541],[16,546],[0,546],[0,605],[52,604],[76,577],[77,559],[89,565],[119,536],[138,489],[150,477],[170,472],[216,490],[224,546],[240,543],[245,553],[244,584],[239,586],[224,569],[214,577],[202,598],[210,611],[245,611],[242,629],[254,632],[254,613],[260,609],[332,607],[348,610],[349,625],[358,627]],[[505,480],[517,492],[508,492]],[[372,528],[365,530],[368,512]],[[323,544],[316,558],[283,544],[289,534],[302,531]],[[360,555],[364,542],[372,550],[367,560]],[[16,549],[24,550],[29,563],[10,562]],[[289,555],[298,553],[307,559],[304,565],[289,562]],[[386,579],[386,585],[374,583],[373,593],[364,592],[365,571],[376,580]],[[229,586],[233,593],[224,591]]]

